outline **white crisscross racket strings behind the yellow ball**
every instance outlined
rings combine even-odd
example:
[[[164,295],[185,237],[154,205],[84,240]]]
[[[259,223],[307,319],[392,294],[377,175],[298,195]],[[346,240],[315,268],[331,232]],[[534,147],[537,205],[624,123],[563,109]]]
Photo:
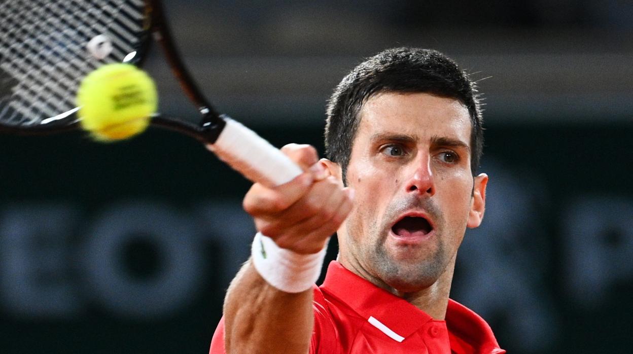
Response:
[[[122,61],[141,45],[142,0],[4,0],[0,3],[0,122],[35,125],[75,108],[87,73]],[[106,35],[111,53],[86,45]]]

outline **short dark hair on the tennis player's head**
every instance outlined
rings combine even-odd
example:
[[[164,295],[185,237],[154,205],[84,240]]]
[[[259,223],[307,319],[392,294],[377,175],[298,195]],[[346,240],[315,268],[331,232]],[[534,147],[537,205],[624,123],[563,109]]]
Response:
[[[458,99],[468,108],[470,169],[475,175],[484,145],[477,88],[453,60],[432,49],[393,48],[368,58],[334,89],[327,106],[325,153],[341,165],[343,181],[360,120],[358,113],[369,98],[380,92],[428,92]]]

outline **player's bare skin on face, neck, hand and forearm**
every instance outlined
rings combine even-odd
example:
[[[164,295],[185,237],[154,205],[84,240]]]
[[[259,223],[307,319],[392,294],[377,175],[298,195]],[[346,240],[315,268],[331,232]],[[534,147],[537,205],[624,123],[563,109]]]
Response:
[[[444,319],[457,250],[486,200],[487,176],[470,172],[468,110],[454,99],[387,92],[368,99],[360,118],[348,187],[339,165],[293,144],[282,151],[306,172],[278,187],[254,184],[244,209],[296,253],[316,253],[337,231],[344,267]],[[392,226],[404,215],[427,218],[432,232],[397,236]],[[306,353],[312,300],[311,289],[273,288],[246,262],[225,300],[227,353]]]

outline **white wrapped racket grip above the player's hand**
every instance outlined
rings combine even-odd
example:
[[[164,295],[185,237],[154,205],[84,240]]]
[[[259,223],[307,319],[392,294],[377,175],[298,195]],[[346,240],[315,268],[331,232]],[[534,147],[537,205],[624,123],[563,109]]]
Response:
[[[213,144],[207,147],[244,177],[268,187],[290,182],[303,171],[279,149],[253,130],[230,118]]]

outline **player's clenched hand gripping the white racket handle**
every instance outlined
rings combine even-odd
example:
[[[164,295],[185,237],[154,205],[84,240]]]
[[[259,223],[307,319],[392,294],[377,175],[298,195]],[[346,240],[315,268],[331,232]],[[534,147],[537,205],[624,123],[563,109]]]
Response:
[[[253,184],[244,197],[244,210],[258,231],[279,247],[316,253],[348,216],[353,191],[329,174],[312,146],[289,144],[281,151],[304,173],[277,187]]]

